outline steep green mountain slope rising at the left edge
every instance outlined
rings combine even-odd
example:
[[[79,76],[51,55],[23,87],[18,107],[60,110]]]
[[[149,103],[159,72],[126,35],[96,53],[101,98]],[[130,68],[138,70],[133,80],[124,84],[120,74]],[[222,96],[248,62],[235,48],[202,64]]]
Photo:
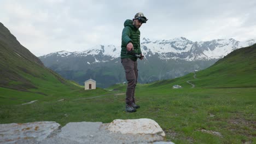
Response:
[[[0,22],[0,90],[36,92],[40,89],[75,87],[53,70],[44,67],[39,58],[22,46]],[[7,94],[7,89],[3,90]],[[4,96],[4,94],[1,94]]]

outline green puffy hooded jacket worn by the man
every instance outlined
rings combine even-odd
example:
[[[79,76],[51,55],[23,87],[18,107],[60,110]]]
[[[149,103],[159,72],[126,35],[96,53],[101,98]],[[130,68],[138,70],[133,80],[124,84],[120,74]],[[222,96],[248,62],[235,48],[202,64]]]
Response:
[[[141,53],[140,35],[139,29],[132,25],[132,20],[126,20],[124,22],[124,29],[122,32],[122,45],[121,45],[121,58],[131,58],[132,61],[137,61],[137,57],[127,53],[126,46],[128,43],[132,43],[133,52],[136,54]]]

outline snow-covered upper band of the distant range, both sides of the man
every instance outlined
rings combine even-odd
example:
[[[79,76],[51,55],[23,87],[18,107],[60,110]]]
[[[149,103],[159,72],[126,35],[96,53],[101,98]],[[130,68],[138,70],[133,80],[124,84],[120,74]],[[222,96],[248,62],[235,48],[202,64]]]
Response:
[[[238,41],[235,39],[217,39],[211,41],[190,41],[186,38],[174,38],[170,40],[150,40],[142,39],[141,50],[143,55],[148,57],[158,56],[162,60],[166,59],[183,59],[186,61],[208,60],[222,58],[231,51],[241,47],[250,46],[256,43],[256,40]],[[89,50],[68,52],[60,51],[44,55],[46,58],[52,55],[68,57],[86,57],[102,55],[109,59],[96,59],[95,62],[107,62],[120,57],[120,46],[114,45],[97,45]]]

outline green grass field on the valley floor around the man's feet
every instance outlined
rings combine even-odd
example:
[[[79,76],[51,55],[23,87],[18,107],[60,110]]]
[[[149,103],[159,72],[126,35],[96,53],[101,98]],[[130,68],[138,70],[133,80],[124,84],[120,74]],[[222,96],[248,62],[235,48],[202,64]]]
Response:
[[[63,126],[69,122],[109,123],[114,119],[150,118],[164,129],[166,140],[175,143],[256,141],[256,88],[189,88],[190,85],[185,85],[182,89],[172,89],[166,83],[158,83],[159,86],[156,83],[138,85],[137,104],[141,108],[136,113],[124,111],[125,86],[117,85],[112,88],[120,92],[80,89],[73,92],[74,95],[63,92],[53,94],[50,99],[38,95],[39,100],[32,104],[0,105],[0,123],[56,121]],[[75,95],[82,92],[84,94]],[[96,97],[98,95],[101,97]],[[34,100],[32,96],[13,99]],[[60,99],[65,100],[58,101]],[[220,135],[214,135],[214,131]]]

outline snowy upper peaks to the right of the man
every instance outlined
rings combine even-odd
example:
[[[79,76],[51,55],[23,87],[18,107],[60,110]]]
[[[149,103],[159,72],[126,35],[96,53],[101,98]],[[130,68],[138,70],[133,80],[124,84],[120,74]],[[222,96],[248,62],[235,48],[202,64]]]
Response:
[[[203,59],[219,59],[231,51],[256,43],[256,40],[244,42],[235,39],[217,39],[211,41],[193,42],[186,38],[171,40],[149,40],[143,38],[142,47],[146,55],[158,53],[161,59],[184,59],[187,61]]]

